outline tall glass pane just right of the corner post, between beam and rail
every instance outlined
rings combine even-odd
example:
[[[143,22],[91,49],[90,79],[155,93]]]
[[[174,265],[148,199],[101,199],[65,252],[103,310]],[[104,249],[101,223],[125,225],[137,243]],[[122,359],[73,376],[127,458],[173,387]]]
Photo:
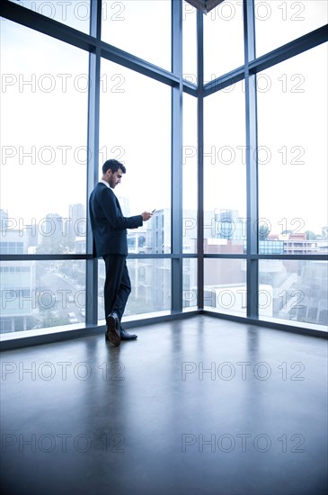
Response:
[[[244,253],[246,161],[242,83],[204,101],[204,250]]]

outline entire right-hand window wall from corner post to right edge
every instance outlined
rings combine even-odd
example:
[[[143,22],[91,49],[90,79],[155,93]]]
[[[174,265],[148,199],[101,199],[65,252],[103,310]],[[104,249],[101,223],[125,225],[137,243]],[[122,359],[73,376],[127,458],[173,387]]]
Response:
[[[327,329],[327,32],[309,34],[326,21],[324,2],[223,2],[204,17],[207,310]]]

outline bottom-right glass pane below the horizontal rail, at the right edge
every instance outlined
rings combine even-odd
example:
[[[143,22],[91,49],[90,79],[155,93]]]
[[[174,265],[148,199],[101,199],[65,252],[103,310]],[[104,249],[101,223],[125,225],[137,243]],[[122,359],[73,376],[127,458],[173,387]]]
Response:
[[[328,264],[325,261],[260,260],[259,315],[282,323],[304,322],[328,330]],[[261,287],[261,285],[260,285]]]

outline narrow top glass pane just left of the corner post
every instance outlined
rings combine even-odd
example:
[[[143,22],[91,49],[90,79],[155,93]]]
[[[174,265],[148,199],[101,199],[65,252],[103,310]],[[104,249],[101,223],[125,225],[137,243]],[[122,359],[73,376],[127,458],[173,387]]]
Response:
[[[183,78],[197,85],[197,11],[182,2]]]

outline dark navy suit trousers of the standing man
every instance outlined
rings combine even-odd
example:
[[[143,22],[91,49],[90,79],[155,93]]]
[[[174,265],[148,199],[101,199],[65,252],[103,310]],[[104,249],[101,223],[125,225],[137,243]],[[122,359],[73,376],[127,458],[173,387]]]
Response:
[[[105,318],[115,311],[121,320],[131,293],[131,282],[127,266],[127,257],[122,255],[105,255],[106,279],[103,289]]]

